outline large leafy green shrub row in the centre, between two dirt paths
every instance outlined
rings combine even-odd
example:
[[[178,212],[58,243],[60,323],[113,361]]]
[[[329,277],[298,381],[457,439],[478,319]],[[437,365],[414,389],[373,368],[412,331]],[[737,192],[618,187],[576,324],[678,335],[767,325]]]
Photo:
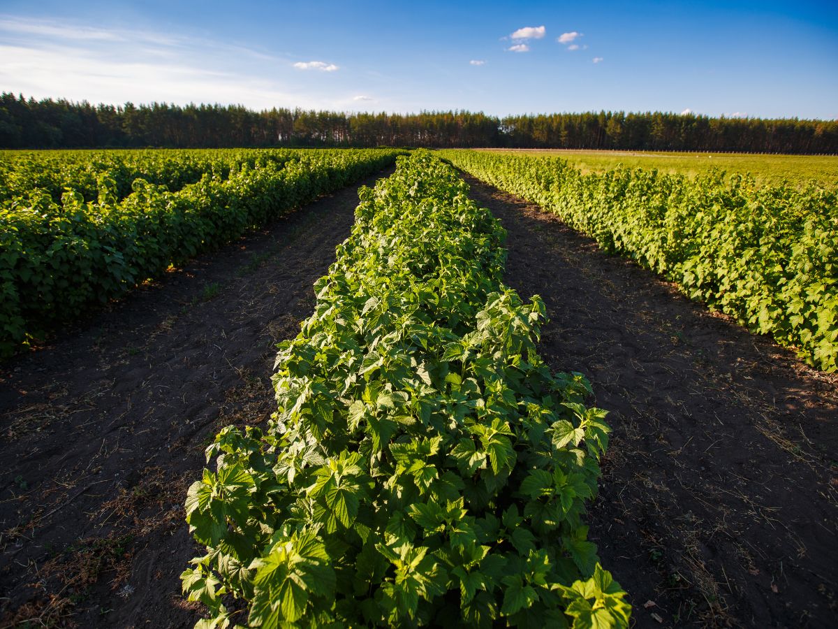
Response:
[[[582,522],[605,412],[535,351],[503,229],[427,151],[360,197],[277,413],[189,489],[197,626],[627,626]]]

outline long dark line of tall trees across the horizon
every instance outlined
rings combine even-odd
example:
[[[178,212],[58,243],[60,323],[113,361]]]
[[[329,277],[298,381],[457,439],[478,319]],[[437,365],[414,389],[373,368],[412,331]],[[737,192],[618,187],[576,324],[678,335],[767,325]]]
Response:
[[[838,153],[838,121],[583,112],[318,112],[0,95],[2,148],[508,147]]]

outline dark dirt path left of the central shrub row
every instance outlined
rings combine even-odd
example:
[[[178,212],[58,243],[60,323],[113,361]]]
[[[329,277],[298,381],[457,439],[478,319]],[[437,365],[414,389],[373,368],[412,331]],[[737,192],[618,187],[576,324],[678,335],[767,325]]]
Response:
[[[355,205],[319,200],[0,366],[0,627],[194,625],[186,489],[222,425],[272,412],[274,345]]]

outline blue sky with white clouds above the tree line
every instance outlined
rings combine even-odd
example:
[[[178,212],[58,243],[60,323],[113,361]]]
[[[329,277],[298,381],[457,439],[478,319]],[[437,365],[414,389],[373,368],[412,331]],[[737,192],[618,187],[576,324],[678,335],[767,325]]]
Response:
[[[838,118],[838,2],[0,3],[0,91]]]

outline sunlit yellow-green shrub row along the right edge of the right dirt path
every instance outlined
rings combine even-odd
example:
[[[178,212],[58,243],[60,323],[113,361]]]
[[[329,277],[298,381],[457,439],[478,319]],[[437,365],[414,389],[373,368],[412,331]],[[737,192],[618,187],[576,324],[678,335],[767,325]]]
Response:
[[[834,372],[835,190],[618,168],[582,174],[556,158],[443,151],[459,169],[554,212],[607,252],[634,258],[700,300]]]

